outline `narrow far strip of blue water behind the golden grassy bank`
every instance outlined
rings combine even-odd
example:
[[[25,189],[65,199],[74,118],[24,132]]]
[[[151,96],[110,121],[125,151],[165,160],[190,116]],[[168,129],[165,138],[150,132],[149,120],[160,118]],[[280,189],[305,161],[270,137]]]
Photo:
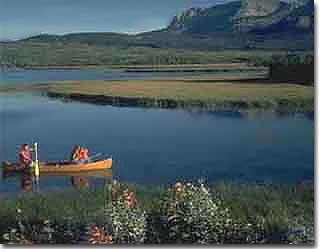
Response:
[[[152,72],[152,73],[128,73],[121,69],[38,69],[38,70],[7,70],[0,72],[0,84],[35,84],[51,83],[61,80],[141,80],[163,79],[168,77],[186,77],[213,74],[234,75],[234,72]],[[250,76],[260,77],[264,72],[250,72]],[[235,73],[236,76],[247,76],[247,72]]]

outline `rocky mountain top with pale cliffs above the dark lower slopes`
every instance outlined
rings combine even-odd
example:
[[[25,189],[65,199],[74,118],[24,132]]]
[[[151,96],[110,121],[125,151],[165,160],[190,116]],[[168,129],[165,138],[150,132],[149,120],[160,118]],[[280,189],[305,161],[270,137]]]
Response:
[[[313,9],[312,0],[295,0],[293,4],[280,0],[241,0],[206,9],[191,8],[175,16],[167,30],[192,34],[305,30],[313,27]]]

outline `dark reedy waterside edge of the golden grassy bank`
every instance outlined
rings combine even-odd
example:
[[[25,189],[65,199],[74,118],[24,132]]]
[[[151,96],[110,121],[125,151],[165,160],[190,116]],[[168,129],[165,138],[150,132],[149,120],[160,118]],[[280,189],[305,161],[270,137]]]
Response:
[[[314,110],[307,108],[307,103],[292,105],[289,101],[279,100],[277,103],[268,101],[246,102],[244,100],[228,101],[202,101],[202,100],[176,100],[169,98],[155,97],[128,97],[111,95],[89,95],[80,93],[61,93],[47,91],[44,93],[49,98],[68,99],[81,103],[95,105],[111,105],[120,107],[143,107],[143,108],[162,108],[162,109],[191,109],[196,108],[203,111],[274,111],[276,113],[314,113]]]

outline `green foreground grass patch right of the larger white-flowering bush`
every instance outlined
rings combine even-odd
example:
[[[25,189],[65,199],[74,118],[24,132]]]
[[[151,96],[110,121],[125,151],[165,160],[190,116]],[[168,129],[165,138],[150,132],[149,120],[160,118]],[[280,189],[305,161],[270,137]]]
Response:
[[[268,223],[285,224],[294,217],[312,220],[314,189],[310,185],[249,185],[221,183],[214,190],[236,216],[249,219],[251,214],[264,217]]]

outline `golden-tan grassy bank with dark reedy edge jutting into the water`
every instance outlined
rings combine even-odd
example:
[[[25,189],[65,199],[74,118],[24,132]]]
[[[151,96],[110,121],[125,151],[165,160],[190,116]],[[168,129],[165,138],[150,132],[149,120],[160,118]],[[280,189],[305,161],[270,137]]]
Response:
[[[314,110],[314,88],[311,86],[275,84],[267,80],[243,82],[210,79],[72,81],[49,85],[47,92],[52,97],[97,104],[207,110]]]

